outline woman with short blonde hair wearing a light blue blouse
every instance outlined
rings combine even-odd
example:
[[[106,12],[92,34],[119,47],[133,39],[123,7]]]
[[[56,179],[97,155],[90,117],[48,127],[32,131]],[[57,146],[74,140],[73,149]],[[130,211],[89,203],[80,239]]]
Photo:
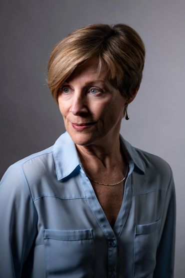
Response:
[[[48,86],[66,132],[1,180],[0,277],[173,277],[171,169],[119,134],[144,53],[123,24],[54,47]]]

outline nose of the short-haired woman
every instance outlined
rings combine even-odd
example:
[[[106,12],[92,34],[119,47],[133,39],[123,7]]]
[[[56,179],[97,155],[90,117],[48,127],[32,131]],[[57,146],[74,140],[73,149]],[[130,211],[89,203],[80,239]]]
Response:
[[[75,116],[81,113],[87,113],[88,107],[85,100],[85,96],[81,96],[81,94],[74,94],[71,99],[71,106],[69,112],[71,112]]]

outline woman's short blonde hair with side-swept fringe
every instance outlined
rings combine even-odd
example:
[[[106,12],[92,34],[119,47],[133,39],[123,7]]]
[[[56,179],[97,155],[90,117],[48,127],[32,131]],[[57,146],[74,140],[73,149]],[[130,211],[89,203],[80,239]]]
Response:
[[[144,44],[131,27],[92,24],[72,32],[55,45],[48,61],[47,84],[57,101],[60,85],[75,68],[98,58],[98,72],[105,65],[109,81],[129,99],[140,86],[144,56]]]

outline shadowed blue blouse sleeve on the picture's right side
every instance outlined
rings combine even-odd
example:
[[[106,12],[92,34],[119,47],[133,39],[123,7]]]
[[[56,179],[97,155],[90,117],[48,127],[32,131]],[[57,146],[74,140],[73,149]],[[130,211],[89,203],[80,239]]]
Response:
[[[153,278],[173,278],[176,218],[175,188],[171,180],[166,192],[165,204],[160,228],[160,241],[156,254],[156,266]]]

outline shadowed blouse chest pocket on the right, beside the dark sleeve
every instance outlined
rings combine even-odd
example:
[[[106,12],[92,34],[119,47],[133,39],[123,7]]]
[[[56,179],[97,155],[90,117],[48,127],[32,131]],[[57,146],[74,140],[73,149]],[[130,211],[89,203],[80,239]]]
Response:
[[[152,277],[159,226],[160,219],[149,224],[135,225],[133,278]]]

